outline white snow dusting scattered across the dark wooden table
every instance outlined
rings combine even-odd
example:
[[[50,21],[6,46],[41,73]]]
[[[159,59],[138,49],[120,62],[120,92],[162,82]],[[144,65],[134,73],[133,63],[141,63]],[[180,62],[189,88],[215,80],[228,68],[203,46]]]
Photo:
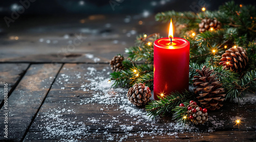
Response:
[[[93,58],[90,54],[87,57]],[[70,70],[72,73],[69,75],[60,73],[54,85],[59,86],[59,89],[63,91],[70,90],[70,93],[82,91],[87,97],[79,99],[74,93],[73,95],[78,101],[67,98],[58,108],[42,112],[42,115],[38,117],[45,122],[45,126],[38,125],[38,127],[42,131],[44,139],[61,137],[61,141],[80,141],[103,136],[104,140],[124,141],[133,136],[179,138],[179,134],[186,132],[197,135],[199,132],[209,133],[224,127],[225,120],[219,120],[217,116],[209,116],[209,122],[203,124],[200,129],[194,125],[179,125],[171,121],[170,118],[169,121],[159,117],[152,120],[147,116],[144,108],[136,107],[127,100],[128,89],[111,87],[113,82],[108,83],[110,74],[108,67],[102,70],[87,67],[83,69],[84,72],[73,72],[75,69],[68,68],[63,68],[63,70]],[[74,82],[73,79],[84,81]],[[71,83],[77,84],[78,87],[68,86]],[[65,105],[69,105],[69,109]],[[77,116],[76,107],[84,108],[82,116]],[[90,116],[86,111],[87,107],[95,107],[95,111],[101,112],[101,115]],[[109,111],[117,113],[111,113],[111,115],[108,113]],[[231,117],[227,121],[233,120],[234,118]],[[203,138],[201,139],[203,140]]]

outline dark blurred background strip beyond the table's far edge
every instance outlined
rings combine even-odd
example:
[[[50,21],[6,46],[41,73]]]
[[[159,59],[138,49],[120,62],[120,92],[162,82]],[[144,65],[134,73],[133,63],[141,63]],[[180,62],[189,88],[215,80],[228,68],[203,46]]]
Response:
[[[28,2],[29,0],[21,0]],[[29,1],[30,2],[30,1]],[[32,3],[33,2],[33,3]],[[118,4],[113,11],[110,3]],[[208,10],[216,10],[227,1],[223,0],[33,0],[31,6],[26,9],[23,15],[91,15],[91,14],[139,14],[145,11],[154,14],[157,12],[176,10],[193,11],[189,6],[200,5],[201,3]],[[235,0],[238,4],[252,4],[256,1]],[[7,16],[22,4],[18,0],[0,2],[0,14]]]

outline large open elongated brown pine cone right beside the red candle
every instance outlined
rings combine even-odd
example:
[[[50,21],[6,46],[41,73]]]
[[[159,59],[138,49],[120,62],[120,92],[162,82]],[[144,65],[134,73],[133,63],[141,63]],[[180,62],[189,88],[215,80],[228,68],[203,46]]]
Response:
[[[221,88],[222,83],[218,81],[216,74],[211,75],[214,70],[204,66],[202,71],[197,70],[197,72],[200,76],[194,76],[193,86],[196,87],[194,89],[195,94],[199,95],[197,97],[198,101],[209,110],[220,109],[223,106],[222,102],[225,100],[226,94],[224,94],[224,88]]]

